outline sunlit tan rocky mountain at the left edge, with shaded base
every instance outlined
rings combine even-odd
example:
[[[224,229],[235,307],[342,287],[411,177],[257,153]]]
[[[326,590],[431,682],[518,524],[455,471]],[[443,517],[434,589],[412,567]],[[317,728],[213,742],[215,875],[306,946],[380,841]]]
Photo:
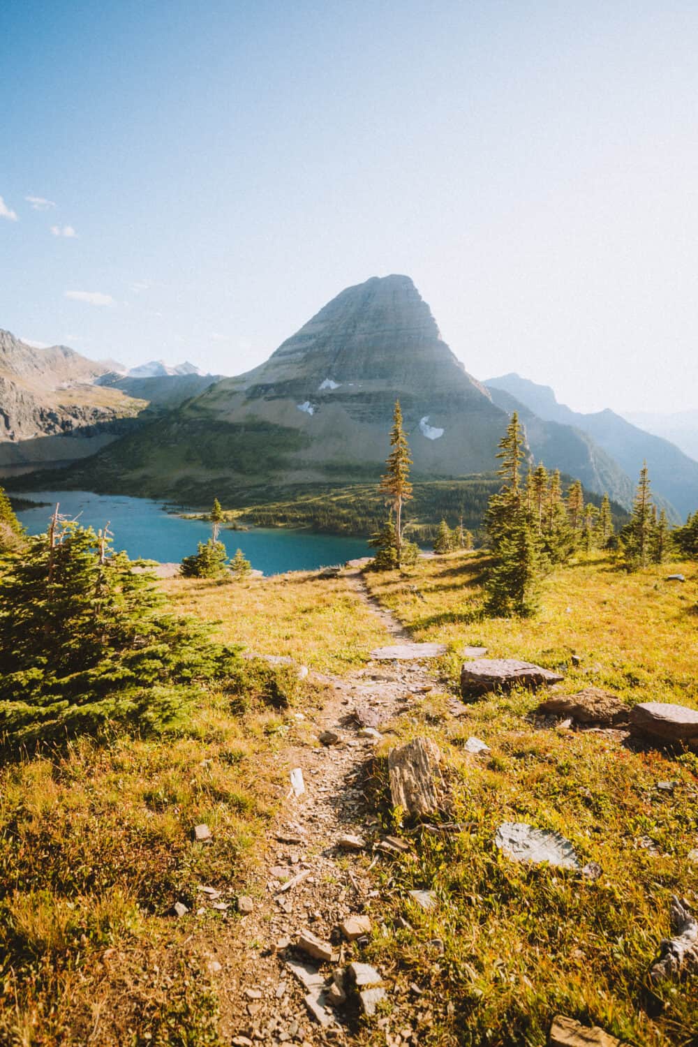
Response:
[[[93,454],[122,433],[145,404],[95,389],[105,370],[67,346],[35,349],[0,331],[0,467]]]

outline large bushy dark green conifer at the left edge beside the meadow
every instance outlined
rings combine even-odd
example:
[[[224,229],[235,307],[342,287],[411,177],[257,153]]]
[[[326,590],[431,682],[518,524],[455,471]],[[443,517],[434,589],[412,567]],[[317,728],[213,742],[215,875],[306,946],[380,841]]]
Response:
[[[0,734],[5,747],[115,722],[180,728],[197,685],[237,671],[210,626],[167,614],[147,561],[54,517],[0,570]],[[136,570],[134,570],[136,569]]]

